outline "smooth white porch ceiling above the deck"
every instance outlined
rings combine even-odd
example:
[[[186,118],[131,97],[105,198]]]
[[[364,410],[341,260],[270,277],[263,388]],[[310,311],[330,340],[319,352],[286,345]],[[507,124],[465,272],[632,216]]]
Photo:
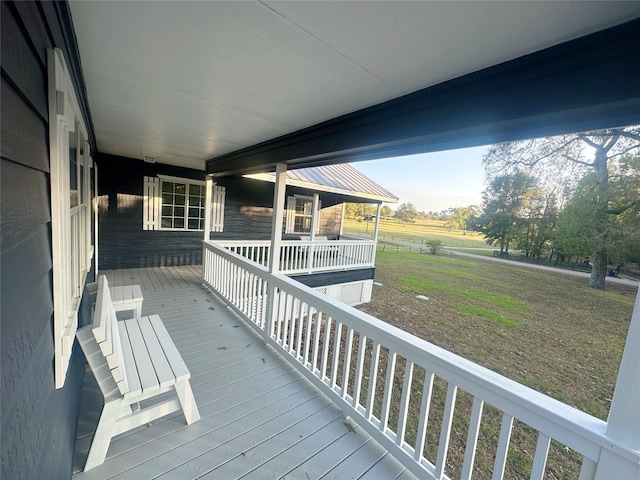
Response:
[[[202,170],[207,159],[640,17],[637,1],[70,6],[98,150]]]

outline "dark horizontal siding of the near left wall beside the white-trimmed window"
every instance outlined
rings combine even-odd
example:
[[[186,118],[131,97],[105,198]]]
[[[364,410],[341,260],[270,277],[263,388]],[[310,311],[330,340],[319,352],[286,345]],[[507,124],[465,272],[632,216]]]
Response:
[[[72,67],[77,50],[67,14],[66,4],[1,5],[0,477],[7,479],[69,478],[72,472],[84,358],[76,345],[65,386],[56,390],[46,68],[47,48],[61,48],[76,91],[84,91]],[[84,97],[79,100],[86,112]],[[90,318],[87,298],[81,324]]]

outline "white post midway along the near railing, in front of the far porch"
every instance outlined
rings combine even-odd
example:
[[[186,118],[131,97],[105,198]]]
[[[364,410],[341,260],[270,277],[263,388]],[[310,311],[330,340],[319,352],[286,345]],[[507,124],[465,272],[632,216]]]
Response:
[[[276,165],[276,183],[273,187],[273,219],[271,222],[271,246],[269,248],[269,273],[280,270],[280,247],[282,245],[282,218],[284,217],[285,193],[287,188],[287,166],[284,163]],[[268,343],[273,334],[275,322],[278,320],[277,292],[269,285],[267,291],[267,318],[264,326],[264,342]]]

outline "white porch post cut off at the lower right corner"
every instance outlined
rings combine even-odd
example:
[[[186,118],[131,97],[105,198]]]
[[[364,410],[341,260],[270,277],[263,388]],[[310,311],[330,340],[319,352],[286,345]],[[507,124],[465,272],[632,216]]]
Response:
[[[595,478],[640,478],[640,289],[631,314],[606,433],[617,445],[636,452],[635,459],[603,448]]]

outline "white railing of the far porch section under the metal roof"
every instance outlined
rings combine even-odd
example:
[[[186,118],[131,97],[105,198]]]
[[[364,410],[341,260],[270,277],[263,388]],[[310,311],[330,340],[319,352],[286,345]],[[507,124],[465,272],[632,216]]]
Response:
[[[216,241],[238,255],[266,267],[271,242],[227,240]],[[373,267],[376,242],[373,240],[285,240],[280,251],[280,273],[327,272]]]

